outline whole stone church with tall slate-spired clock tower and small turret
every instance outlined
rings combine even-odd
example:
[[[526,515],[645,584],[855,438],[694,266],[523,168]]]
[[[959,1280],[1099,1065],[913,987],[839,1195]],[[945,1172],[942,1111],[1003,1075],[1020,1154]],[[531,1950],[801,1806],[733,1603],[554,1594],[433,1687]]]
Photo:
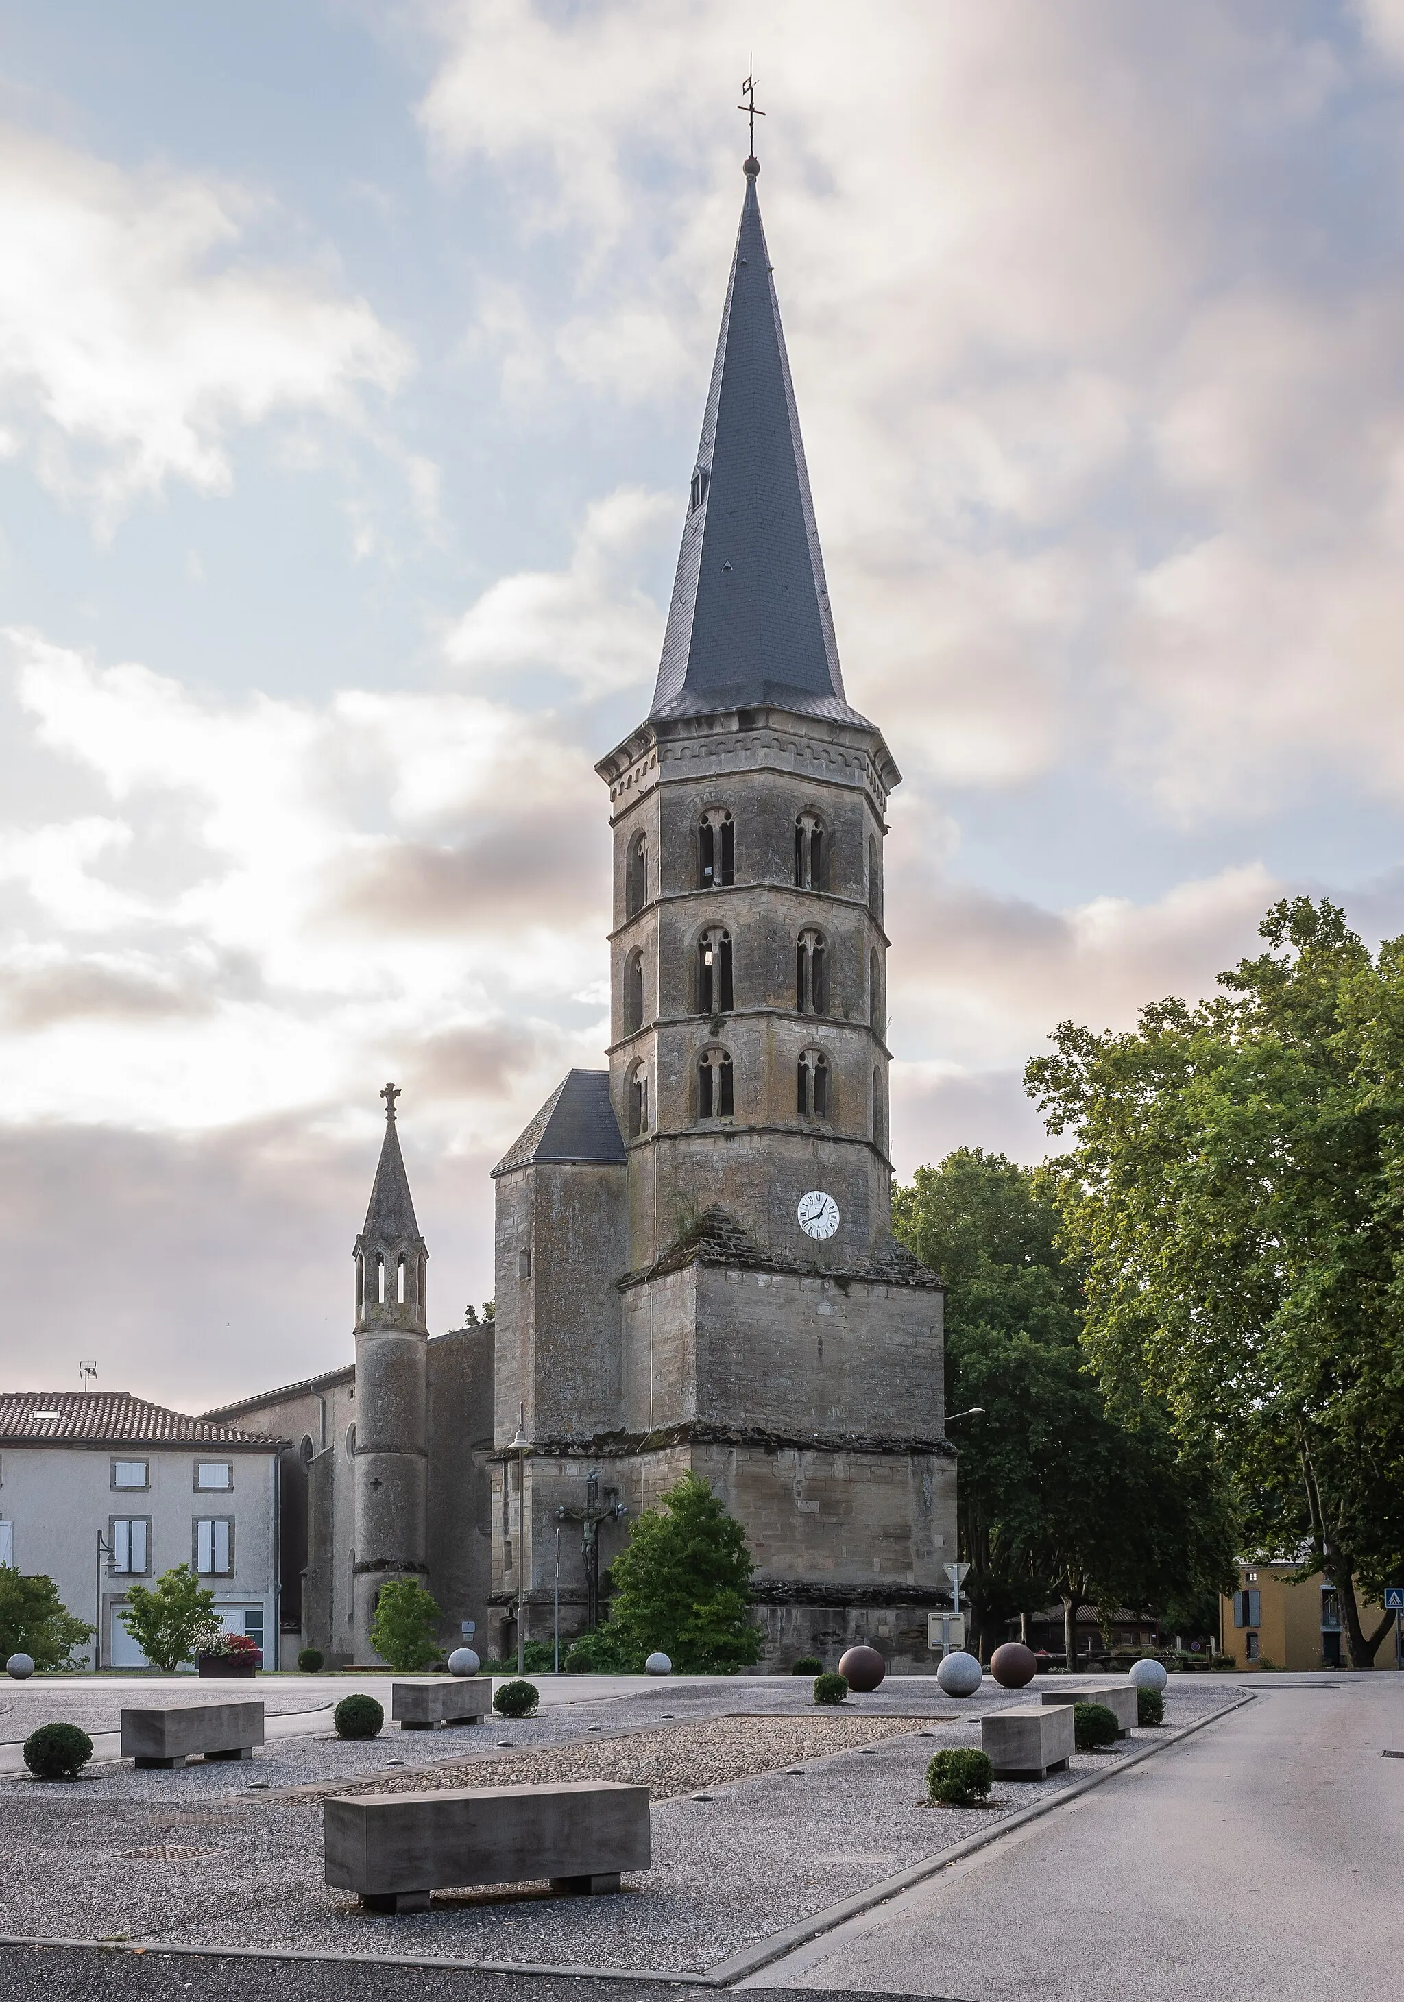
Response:
[[[431,1337],[395,1087],[355,1243],[355,1363],[210,1417],[288,1439],[282,1630],[371,1662],[379,1586],[445,1640],[599,1618],[687,1471],[743,1524],[763,1668],[931,1666],[955,1451],[941,1281],[891,1237],[883,837],[901,775],[843,693],[759,162],[647,717],[613,829],[609,1069],[493,1169],[497,1319]],[[557,1570],[559,1562],[559,1570]]]

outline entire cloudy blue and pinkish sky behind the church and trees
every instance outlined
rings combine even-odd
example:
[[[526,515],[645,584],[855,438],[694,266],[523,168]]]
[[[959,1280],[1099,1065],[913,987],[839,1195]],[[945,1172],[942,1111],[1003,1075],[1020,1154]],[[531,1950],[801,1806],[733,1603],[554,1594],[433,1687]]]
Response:
[[[605,1041],[743,192],[889,841],[897,1165],[1284,891],[1404,929],[1404,0],[0,0],[8,1387],[431,1321]]]

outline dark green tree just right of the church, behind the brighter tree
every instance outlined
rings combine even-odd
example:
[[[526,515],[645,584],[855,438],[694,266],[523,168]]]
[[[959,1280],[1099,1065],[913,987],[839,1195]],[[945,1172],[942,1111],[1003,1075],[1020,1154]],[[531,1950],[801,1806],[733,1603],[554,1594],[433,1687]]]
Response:
[[[1114,1415],[1080,1345],[1082,1275],[1041,1179],[961,1147],[893,1191],[893,1231],[945,1283],[945,1403],[959,1427],[959,1554],[971,1642],[1064,1602],[1138,1610],[1216,1588],[1236,1530],[1224,1479],[1140,1399]]]

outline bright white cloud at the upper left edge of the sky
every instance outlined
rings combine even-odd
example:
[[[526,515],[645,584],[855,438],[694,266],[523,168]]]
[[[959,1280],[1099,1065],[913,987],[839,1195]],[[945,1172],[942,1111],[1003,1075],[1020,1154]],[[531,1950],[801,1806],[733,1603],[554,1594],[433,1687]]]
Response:
[[[236,426],[355,420],[361,388],[405,378],[403,338],[332,272],[248,254],[266,210],[0,126],[0,412],[44,484],[110,525],[168,480],[226,488]]]

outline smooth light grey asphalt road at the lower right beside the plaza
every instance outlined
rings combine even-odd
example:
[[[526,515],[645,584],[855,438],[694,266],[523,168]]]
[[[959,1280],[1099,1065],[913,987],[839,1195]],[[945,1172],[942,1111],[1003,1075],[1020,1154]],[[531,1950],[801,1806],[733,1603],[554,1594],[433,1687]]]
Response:
[[[1246,1678],[1240,1688],[1246,1686]],[[1404,1676],[1258,1700],[755,1976],[957,2002],[1320,2002],[1404,1976]]]

